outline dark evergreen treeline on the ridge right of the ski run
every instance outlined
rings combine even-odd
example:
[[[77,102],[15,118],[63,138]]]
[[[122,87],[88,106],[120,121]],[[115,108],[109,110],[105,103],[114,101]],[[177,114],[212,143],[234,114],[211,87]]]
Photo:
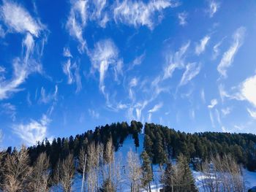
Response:
[[[231,154],[238,164],[256,170],[256,135],[204,132],[187,134],[173,128],[146,123],[144,148],[153,164],[165,164],[170,158],[184,154],[203,161],[212,156]]]

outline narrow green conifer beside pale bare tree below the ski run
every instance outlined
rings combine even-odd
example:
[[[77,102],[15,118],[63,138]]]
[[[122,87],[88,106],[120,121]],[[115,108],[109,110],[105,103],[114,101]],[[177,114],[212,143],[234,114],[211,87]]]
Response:
[[[143,187],[146,187],[146,190],[151,192],[151,180],[153,180],[153,172],[152,172],[152,168],[151,168],[151,161],[149,158],[148,153],[146,153],[146,151],[144,150],[143,153],[141,153],[140,158],[143,161],[142,164],[142,179],[141,179],[141,183]]]

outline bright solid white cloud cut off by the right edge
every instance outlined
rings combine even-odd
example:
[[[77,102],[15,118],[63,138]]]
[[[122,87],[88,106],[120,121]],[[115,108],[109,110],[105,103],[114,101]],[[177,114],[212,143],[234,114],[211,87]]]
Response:
[[[246,99],[256,107],[256,75],[247,78],[242,83],[241,99]]]

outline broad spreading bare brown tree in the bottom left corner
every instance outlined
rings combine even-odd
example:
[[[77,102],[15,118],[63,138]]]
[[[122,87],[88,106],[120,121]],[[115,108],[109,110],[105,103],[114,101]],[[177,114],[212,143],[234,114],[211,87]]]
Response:
[[[26,191],[30,174],[29,153],[23,145],[20,151],[7,155],[4,164],[4,191]]]

